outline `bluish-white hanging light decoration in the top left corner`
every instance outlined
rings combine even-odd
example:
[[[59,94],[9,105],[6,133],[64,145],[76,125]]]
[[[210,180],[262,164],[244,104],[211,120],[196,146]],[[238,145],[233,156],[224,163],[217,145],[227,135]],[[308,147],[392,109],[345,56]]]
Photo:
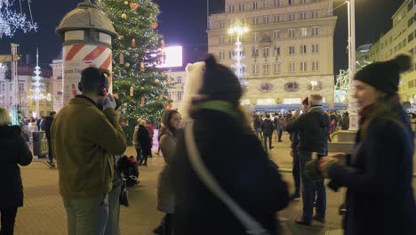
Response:
[[[27,1],[30,20],[28,20],[26,14],[21,11],[21,0],[20,13],[11,9],[14,4],[14,0],[0,0],[0,38],[3,36],[12,37],[18,29],[23,30],[24,33],[27,33],[32,29],[36,31],[37,25],[33,22],[32,12],[30,9],[31,0]]]

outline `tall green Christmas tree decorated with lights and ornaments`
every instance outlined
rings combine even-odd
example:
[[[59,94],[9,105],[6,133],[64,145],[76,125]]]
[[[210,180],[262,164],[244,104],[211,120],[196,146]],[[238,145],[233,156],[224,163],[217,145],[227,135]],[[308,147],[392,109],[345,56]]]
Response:
[[[123,103],[130,138],[137,118],[160,122],[167,93],[167,76],[156,65],[164,59],[163,37],[156,32],[159,7],[151,0],[96,0],[113,22],[113,90]]]

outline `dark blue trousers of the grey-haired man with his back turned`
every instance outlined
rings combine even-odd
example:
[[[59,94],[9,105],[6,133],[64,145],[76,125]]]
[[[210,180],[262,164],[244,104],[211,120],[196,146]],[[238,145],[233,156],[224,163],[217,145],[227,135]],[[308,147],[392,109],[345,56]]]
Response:
[[[303,216],[304,222],[311,222],[312,215],[314,213],[314,188],[316,190],[316,216],[319,218],[325,217],[326,211],[326,192],[324,181],[312,182],[305,177],[304,169],[305,164],[312,159],[312,152],[301,151],[299,152],[299,164],[300,164],[300,180],[302,183],[302,201],[303,201]]]

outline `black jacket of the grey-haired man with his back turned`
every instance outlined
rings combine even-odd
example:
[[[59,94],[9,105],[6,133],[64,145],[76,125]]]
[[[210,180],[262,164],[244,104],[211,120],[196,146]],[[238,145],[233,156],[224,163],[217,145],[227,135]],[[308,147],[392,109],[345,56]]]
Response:
[[[298,150],[326,154],[329,118],[321,106],[315,106],[286,126],[288,132],[299,132]]]

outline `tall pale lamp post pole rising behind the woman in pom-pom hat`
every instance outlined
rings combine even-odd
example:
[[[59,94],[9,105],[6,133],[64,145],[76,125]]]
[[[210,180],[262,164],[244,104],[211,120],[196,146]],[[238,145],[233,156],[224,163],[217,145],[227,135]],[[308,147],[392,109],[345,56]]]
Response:
[[[348,0],[348,116],[350,131],[358,130],[358,109],[354,98],[354,75],[356,74],[356,0]]]

